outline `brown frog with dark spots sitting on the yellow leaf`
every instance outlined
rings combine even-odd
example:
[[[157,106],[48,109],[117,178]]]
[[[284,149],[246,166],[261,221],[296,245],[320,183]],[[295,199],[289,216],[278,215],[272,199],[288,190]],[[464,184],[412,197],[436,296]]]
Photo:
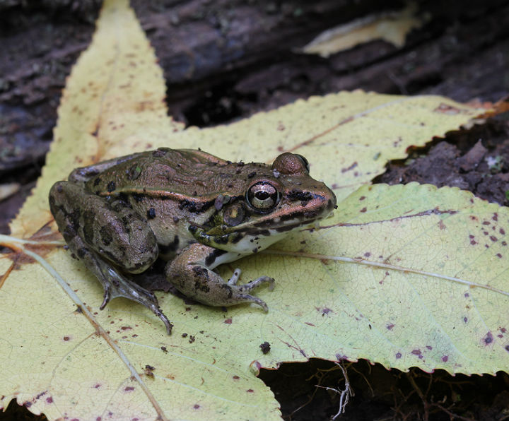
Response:
[[[49,191],[49,208],[66,247],[103,285],[105,309],[125,297],[172,323],[156,295],[136,283],[157,259],[164,277],[201,304],[267,304],[252,291],[274,286],[260,276],[239,285],[214,269],[257,254],[337,208],[334,192],[310,176],[308,160],[281,153],[267,165],[231,162],[197,149],[158,148],[78,167]]]

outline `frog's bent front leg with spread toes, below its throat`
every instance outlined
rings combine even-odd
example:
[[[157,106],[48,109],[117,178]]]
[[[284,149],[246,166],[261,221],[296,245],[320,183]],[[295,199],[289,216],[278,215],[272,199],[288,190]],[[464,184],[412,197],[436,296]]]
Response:
[[[236,285],[240,269],[235,269],[233,276],[226,282],[210,268],[217,249],[201,243],[191,244],[165,268],[166,279],[175,285],[177,290],[189,298],[209,306],[230,306],[241,302],[254,302],[266,312],[267,304],[249,292],[264,283],[274,287],[274,279],[262,276],[245,285]],[[217,265],[214,265],[215,267]]]

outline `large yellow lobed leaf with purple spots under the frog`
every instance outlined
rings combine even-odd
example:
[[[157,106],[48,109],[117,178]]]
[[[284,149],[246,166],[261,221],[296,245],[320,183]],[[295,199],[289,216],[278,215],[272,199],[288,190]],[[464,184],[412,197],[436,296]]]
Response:
[[[497,251],[503,258],[470,254],[462,260],[467,244],[456,245],[464,237],[452,235],[456,225],[449,225],[456,215],[493,213],[493,206],[472,199],[468,208],[470,196],[428,186],[356,192],[384,170],[387,160],[404,158],[409,146],[466,124],[478,109],[443,97],[340,93],[229,126],[183,131],[166,116],[161,75],[126,1],[107,1],[93,43],[69,77],[47,166],[11,225],[13,237],[0,237],[13,249],[0,259],[0,405],[16,397],[49,420],[276,420],[279,404],[252,374],[262,364],[364,357],[402,369],[417,365],[470,373],[503,367],[505,339],[497,336],[496,319],[474,313],[477,308],[486,312],[486,302],[504,309],[507,288],[498,278],[490,284],[495,289],[486,287],[478,272],[486,264],[502,271],[494,263],[505,263],[505,251]],[[247,305],[223,312],[159,294],[175,324],[167,336],[160,320],[139,304],[117,299],[100,312],[100,283],[64,249],[55,248],[59,235],[47,203],[55,181],[78,165],[158,146],[201,147],[221,158],[261,162],[293,150],[308,157],[312,174],[334,186],[340,199],[351,194],[327,227],[302,230],[266,254],[239,262],[245,280],[276,278],[273,292],[257,292],[269,304],[268,314]],[[358,207],[360,194],[365,211]],[[434,212],[436,206],[457,213]],[[451,219],[443,220],[447,215]],[[507,231],[507,219],[497,229]],[[452,267],[454,261],[470,264],[469,271]],[[385,271],[388,280],[380,278]],[[484,295],[472,295],[475,309],[471,305],[463,315],[466,303],[457,294],[467,287]],[[423,304],[414,311],[417,299]],[[452,299],[455,311],[445,305]],[[445,304],[432,307],[435,302]],[[428,313],[421,319],[424,307]],[[455,324],[460,316],[472,324]],[[484,324],[491,336],[481,335]],[[452,337],[455,328],[469,333],[467,343]],[[271,343],[267,355],[259,350],[265,341]],[[486,355],[473,361],[467,355],[472,347]]]

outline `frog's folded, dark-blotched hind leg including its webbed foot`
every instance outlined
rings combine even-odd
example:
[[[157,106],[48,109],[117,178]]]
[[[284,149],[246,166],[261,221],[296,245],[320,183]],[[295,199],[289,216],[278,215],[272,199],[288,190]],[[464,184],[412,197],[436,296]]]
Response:
[[[57,182],[49,192],[49,206],[69,249],[100,280],[104,300],[115,297],[144,304],[171,333],[172,324],[160,311],[152,292],[132,282],[118,270],[141,273],[158,256],[150,227],[121,201],[108,203],[70,182]]]

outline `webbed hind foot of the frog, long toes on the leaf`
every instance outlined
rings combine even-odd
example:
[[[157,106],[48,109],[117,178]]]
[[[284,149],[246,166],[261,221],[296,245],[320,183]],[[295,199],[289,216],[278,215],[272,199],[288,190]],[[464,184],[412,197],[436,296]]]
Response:
[[[165,324],[168,335],[171,334],[173,325],[168,320],[168,317],[160,311],[156,295],[122,276],[115,268],[107,266],[107,264],[104,264],[102,261],[98,261],[98,267],[101,273],[98,279],[103,284],[104,288],[103,303],[99,307],[101,310],[104,309],[106,304],[113,298],[128,298],[129,300],[143,304],[150,309],[153,314],[156,314]]]

